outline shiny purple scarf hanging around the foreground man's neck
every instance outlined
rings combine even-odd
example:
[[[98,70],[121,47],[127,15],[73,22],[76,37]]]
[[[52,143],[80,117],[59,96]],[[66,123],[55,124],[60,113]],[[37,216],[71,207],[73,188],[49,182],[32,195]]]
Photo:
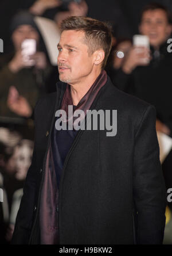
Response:
[[[102,71],[88,92],[81,98],[76,109],[87,112],[96,98],[97,93],[105,85],[107,74]],[[70,86],[67,85],[62,99],[61,109],[68,113],[68,105],[73,105]],[[56,170],[54,170],[53,153],[50,145],[45,165],[44,183],[41,192],[40,203],[40,244],[58,244],[58,187],[56,182]]]

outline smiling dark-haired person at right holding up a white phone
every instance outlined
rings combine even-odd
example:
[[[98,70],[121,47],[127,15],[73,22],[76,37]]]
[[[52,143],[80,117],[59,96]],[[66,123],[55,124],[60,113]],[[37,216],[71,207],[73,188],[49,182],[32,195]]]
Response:
[[[119,89],[134,94],[157,109],[157,131],[172,136],[171,55],[167,39],[171,35],[171,16],[166,7],[153,3],[142,10],[140,35],[150,47],[134,44],[124,56],[113,79]]]

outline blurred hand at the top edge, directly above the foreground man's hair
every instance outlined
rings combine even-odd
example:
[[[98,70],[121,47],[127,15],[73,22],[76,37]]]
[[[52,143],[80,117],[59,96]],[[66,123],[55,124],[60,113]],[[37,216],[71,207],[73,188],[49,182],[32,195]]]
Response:
[[[71,16],[86,16],[88,12],[88,5],[84,0],[80,3],[70,2],[68,8]]]

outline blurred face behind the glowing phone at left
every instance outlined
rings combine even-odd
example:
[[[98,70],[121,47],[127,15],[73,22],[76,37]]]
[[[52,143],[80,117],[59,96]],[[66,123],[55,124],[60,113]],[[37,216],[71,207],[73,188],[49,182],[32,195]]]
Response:
[[[24,41],[25,39],[35,39],[38,43],[39,34],[37,30],[33,28],[33,26],[21,25],[14,30],[12,34],[12,40],[13,40],[15,51],[18,51],[19,49],[21,49],[22,41]]]

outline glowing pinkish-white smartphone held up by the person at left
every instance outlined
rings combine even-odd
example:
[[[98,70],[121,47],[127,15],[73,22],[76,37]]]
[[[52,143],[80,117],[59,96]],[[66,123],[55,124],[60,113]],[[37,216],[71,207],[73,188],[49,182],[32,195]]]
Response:
[[[22,55],[28,66],[34,65],[34,60],[30,60],[29,56],[36,53],[36,47],[37,44],[35,39],[25,39],[21,44]]]

